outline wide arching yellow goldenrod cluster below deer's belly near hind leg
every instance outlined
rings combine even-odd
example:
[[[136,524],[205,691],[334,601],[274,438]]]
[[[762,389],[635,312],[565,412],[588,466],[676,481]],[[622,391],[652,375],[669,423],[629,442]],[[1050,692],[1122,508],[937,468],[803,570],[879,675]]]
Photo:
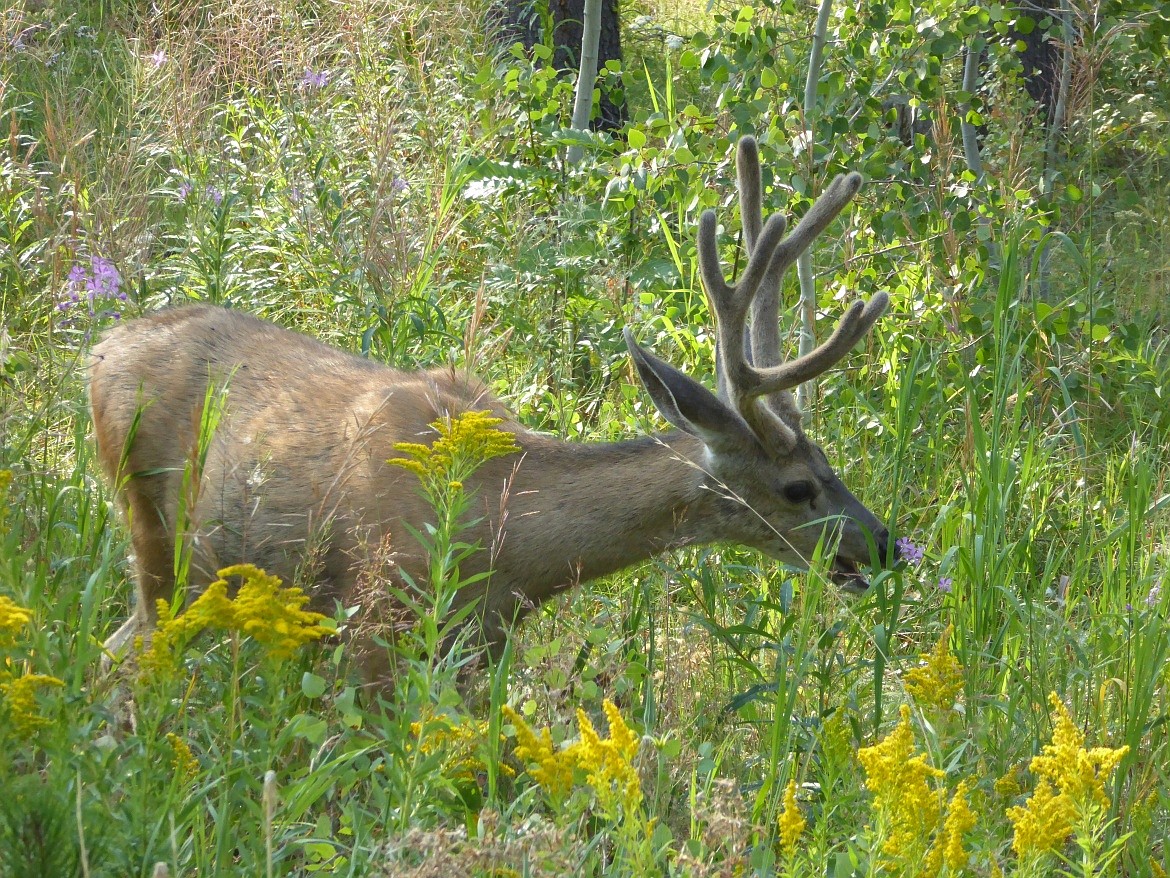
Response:
[[[234,599],[227,596],[227,579],[232,576],[242,579]],[[309,597],[301,589],[284,588],[278,577],[257,567],[226,567],[219,577],[179,616],[171,615],[166,601],[158,602],[159,624],[150,650],[139,659],[144,671],[164,674],[172,671],[178,652],[204,629],[246,635],[276,661],[332,633],[321,625],[324,615],[302,609]]]

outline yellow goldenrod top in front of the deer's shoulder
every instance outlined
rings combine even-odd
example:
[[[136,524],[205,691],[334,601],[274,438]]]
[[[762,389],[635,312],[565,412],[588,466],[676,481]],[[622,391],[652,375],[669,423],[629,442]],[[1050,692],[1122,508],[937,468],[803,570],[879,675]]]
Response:
[[[489,411],[463,412],[432,421],[431,426],[439,433],[432,445],[395,443],[394,451],[406,457],[391,458],[387,462],[410,469],[426,483],[438,481],[452,489],[462,488],[459,480],[480,464],[521,450],[514,433],[497,430],[502,423],[503,418]]]

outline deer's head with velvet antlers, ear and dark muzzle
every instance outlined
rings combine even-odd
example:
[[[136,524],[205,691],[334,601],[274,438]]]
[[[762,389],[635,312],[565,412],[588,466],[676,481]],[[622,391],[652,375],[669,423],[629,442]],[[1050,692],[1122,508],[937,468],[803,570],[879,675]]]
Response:
[[[834,581],[863,590],[868,582],[860,567],[887,560],[889,531],[805,435],[792,389],[844,358],[873,328],[889,297],[879,293],[854,302],[833,334],[797,359],[783,359],[779,334],[785,270],[856,194],[861,176],[834,179],[785,236],[782,215],[763,221],[759,153],[751,137],[739,142],[737,170],[748,251],[737,283],[728,283],[720,267],[714,211],[704,212],[698,224],[698,266],[717,322],[718,393],[639,345],[628,328],[626,343],[662,417],[703,445],[700,466],[709,487],[727,501],[718,537],[807,567],[827,530],[830,541],[837,541]]]

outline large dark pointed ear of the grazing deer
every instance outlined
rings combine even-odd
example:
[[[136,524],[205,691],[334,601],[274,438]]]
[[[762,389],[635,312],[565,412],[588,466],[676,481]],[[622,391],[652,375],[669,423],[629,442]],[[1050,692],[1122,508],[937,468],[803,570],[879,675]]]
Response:
[[[628,327],[625,336],[642,386],[672,425],[702,439],[708,448],[716,452],[759,445],[738,412],[694,378],[638,344]]]

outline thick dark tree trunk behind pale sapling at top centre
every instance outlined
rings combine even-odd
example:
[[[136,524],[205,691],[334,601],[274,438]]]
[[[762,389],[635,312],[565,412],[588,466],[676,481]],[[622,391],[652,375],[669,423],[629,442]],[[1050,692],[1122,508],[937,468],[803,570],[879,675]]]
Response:
[[[558,70],[580,67],[581,20],[585,18],[585,0],[546,0],[552,27],[551,42],[555,47],[552,63]],[[519,40],[531,49],[545,41],[543,32],[544,0],[504,0],[501,11],[502,30],[505,39]],[[618,0],[601,0],[601,36],[597,52],[598,68],[606,61],[621,61],[621,22],[618,18]],[[600,115],[590,126],[599,131],[620,128],[626,121],[626,104],[620,94],[601,89]]]

